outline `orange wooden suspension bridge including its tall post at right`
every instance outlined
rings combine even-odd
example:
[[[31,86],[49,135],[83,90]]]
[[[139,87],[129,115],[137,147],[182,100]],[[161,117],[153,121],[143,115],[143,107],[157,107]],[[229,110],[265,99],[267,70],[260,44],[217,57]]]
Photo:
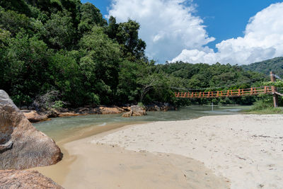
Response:
[[[270,72],[272,82],[275,82],[275,74]],[[275,86],[260,86],[252,88],[238,88],[226,91],[207,91],[207,92],[175,92],[175,98],[230,98],[241,96],[258,96],[260,94],[272,94],[274,106],[278,107],[278,96],[283,96],[277,91]]]

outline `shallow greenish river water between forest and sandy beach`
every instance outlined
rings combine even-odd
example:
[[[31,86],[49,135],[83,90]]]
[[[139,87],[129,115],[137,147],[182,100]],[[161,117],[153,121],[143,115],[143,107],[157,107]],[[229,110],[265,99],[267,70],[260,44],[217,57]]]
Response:
[[[81,134],[81,130],[88,130],[108,125],[128,125],[139,122],[190,120],[205,115],[232,115],[238,114],[241,110],[248,109],[248,106],[216,106],[212,111],[210,106],[191,105],[187,108],[180,108],[168,112],[148,112],[146,116],[122,118],[121,114],[116,115],[82,115],[76,117],[54,118],[50,121],[33,124],[37,130],[45,132],[48,136],[59,141],[64,138],[74,137]]]

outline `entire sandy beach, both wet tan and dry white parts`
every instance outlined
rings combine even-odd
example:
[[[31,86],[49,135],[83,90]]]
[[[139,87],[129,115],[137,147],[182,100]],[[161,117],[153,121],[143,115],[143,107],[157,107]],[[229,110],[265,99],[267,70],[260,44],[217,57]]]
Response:
[[[65,188],[283,188],[283,115],[128,125],[59,143]]]

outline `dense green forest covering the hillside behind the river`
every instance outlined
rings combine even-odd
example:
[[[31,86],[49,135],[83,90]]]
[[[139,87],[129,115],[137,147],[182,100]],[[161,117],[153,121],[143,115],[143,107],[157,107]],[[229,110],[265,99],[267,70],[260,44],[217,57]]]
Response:
[[[69,107],[251,104],[255,97],[190,101],[174,93],[249,88],[270,80],[231,64],[156,64],[145,55],[138,21],[107,21],[95,5],[79,0],[1,0],[0,18],[0,88],[17,105],[46,94]]]

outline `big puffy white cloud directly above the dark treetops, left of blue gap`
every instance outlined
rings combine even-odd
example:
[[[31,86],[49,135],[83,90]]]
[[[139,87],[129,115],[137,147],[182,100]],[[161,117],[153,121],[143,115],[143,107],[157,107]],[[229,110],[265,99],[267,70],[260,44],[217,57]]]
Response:
[[[192,0],[112,0],[109,15],[118,22],[128,18],[140,23],[146,54],[158,62],[173,59],[183,49],[202,50],[209,38]]]

